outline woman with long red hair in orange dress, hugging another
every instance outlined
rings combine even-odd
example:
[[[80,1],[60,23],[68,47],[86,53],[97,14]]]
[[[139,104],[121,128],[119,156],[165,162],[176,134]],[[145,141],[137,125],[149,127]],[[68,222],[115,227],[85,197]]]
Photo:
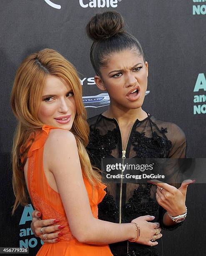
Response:
[[[106,185],[85,149],[89,128],[82,88],[68,60],[52,49],[30,54],[16,73],[11,106],[18,119],[13,212],[28,204],[27,187],[43,219],[58,223],[56,243],[44,243],[38,256],[111,256],[108,243],[129,239],[149,245],[156,230],[161,237],[159,224],[155,230],[155,223],[146,222],[152,216],[121,224],[98,220]],[[50,239],[45,228],[39,231],[44,241]]]

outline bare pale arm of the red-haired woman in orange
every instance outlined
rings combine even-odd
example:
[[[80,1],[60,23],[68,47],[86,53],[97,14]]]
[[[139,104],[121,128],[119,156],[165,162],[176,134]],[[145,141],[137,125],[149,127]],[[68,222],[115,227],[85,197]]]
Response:
[[[75,137],[71,132],[59,129],[50,131],[45,143],[45,151],[49,156],[49,158],[45,157],[48,159],[46,166],[55,177],[70,230],[78,241],[106,244],[135,238],[134,224],[110,223],[93,217],[83,182]],[[144,228],[149,228],[146,239],[149,243],[155,233],[156,224],[146,220],[139,220],[138,224],[140,228],[144,225]]]

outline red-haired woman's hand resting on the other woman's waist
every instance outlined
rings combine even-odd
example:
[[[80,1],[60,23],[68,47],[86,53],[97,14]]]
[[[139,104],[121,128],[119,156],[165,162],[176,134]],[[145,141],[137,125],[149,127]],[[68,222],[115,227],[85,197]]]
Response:
[[[160,224],[158,222],[149,222],[153,219],[153,216],[145,215],[131,221],[131,223],[135,222],[140,227],[140,237],[136,243],[141,243],[148,246],[155,246],[158,244],[158,242],[155,240],[162,237],[162,234],[160,233],[161,228],[159,227]]]

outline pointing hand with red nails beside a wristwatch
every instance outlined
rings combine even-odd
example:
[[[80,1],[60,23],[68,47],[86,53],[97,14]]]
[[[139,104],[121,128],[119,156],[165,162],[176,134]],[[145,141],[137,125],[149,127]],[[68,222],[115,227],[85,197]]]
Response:
[[[195,180],[187,179],[181,184],[178,189],[167,183],[159,182],[158,180],[148,181],[148,183],[157,185],[156,200],[168,213],[173,217],[184,214],[186,212],[186,193],[189,184]]]

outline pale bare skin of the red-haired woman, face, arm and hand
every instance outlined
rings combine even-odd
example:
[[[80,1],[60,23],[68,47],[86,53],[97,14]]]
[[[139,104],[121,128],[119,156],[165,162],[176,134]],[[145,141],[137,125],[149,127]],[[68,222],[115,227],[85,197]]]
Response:
[[[71,87],[63,79],[48,75],[41,97],[39,119],[42,123],[63,128],[64,130],[51,130],[45,142],[43,169],[47,181],[50,187],[60,194],[70,230],[78,241],[91,244],[108,244],[129,239],[133,240],[136,238],[136,226],[133,223],[117,224],[93,217],[83,182],[75,137],[69,131],[72,127],[75,113],[76,107]],[[70,116],[70,120],[67,123],[60,124],[57,121],[67,115]],[[24,167],[26,182],[27,170],[28,161]],[[76,200],[77,198],[78,200]],[[156,225],[156,223],[149,222],[153,219],[154,217],[146,215],[133,220],[141,229],[138,243],[151,245],[152,242],[150,240],[156,233],[156,228],[161,231],[158,223]],[[41,222],[44,225],[50,225],[58,223],[58,220],[42,220]],[[59,225],[54,227],[59,230]],[[63,228],[62,231],[64,230]],[[43,230],[44,233],[45,229]],[[36,234],[38,235],[39,233],[40,228]],[[48,239],[50,239],[49,235],[52,234],[48,234]],[[58,233],[55,233],[55,236],[58,237]],[[161,238],[161,236],[159,234],[157,239]],[[156,241],[153,242],[153,245],[156,244]]]

